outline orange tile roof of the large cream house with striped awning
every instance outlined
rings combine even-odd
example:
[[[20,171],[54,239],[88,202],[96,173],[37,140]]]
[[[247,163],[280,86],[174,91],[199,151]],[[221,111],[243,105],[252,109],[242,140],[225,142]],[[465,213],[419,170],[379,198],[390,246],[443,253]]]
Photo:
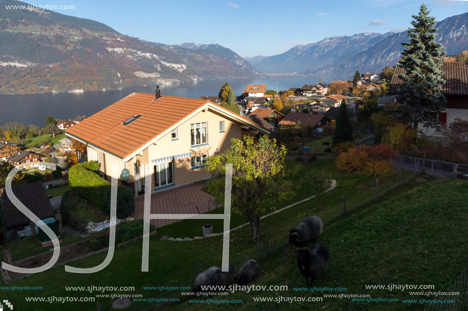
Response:
[[[132,93],[70,127],[66,133],[124,159],[210,102],[167,95],[154,99],[154,94]],[[234,114],[224,107],[216,106]],[[141,117],[128,125],[122,124],[135,115]],[[238,117],[252,123],[249,119]]]

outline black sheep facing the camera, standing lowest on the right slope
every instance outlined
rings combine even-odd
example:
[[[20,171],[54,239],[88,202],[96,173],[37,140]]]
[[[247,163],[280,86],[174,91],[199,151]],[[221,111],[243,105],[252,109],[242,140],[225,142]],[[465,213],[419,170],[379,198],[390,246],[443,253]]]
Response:
[[[330,251],[322,243],[317,243],[309,247],[298,250],[299,272],[306,278],[307,286],[312,286],[315,277],[325,274],[328,271],[330,261]]]

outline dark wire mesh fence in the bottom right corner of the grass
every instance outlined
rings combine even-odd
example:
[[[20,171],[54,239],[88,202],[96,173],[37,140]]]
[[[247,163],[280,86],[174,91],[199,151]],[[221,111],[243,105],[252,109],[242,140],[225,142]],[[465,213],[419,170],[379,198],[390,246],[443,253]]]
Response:
[[[455,295],[454,293],[459,294]],[[436,303],[431,304],[427,309],[424,308],[424,310],[461,311],[468,309],[468,279],[466,278],[466,268],[463,269],[461,275],[454,284],[447,289],[446,295],[438,296],[436,301]]]

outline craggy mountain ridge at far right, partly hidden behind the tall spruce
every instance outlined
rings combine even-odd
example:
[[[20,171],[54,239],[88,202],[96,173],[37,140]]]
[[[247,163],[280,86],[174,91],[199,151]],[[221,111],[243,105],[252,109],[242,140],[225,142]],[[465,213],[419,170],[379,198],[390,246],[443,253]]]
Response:
[[[436,24],[437,41],[445,46],[447,54],[458,54],[468,46],[468,13],[448,17]],[[395,66],[401,58],[407,32],[392,34],[367,50],[347,55],[334,64],[319,69],[307,69],[304,74],[334,75],[341,73],[351,76],[360,72],[380,72],[385,66]]]

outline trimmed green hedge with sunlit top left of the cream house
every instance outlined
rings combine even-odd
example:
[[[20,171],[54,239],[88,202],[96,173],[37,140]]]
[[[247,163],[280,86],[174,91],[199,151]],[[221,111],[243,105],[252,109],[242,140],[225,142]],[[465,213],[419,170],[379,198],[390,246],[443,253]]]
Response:
[[[94,203],[103,212],[110,212],[111,184],[97,175],[100,164],[94,161],[71,166],[68,171],[71,190]],[[127,217],[135,211],[132,191],[117,187],[117,217]]]

